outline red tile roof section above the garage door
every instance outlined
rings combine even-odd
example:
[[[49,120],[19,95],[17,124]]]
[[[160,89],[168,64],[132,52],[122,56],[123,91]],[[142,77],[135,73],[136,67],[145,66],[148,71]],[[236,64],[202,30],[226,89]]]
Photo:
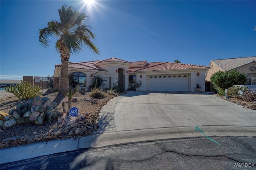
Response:
[[[183,64],[183,63],[154,63],[152,66],[144,67],[138,69],[137,71],[160,71],[160,70],[177,70],[177,69],[201,69],[201,68],[210,68],[204,65],[192,65],[192,64]]]

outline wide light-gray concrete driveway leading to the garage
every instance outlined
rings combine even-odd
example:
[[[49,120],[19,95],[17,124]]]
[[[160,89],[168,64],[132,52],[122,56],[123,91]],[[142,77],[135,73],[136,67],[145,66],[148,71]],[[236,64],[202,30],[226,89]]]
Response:
[[[202,93],[129,92],[116,104],[116,130],[167,127],[256,127],[256,116]]]

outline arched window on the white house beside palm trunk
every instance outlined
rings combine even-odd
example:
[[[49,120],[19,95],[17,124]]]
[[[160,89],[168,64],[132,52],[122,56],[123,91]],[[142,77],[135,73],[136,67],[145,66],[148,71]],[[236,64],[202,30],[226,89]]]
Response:
[[[75,72],[71,74],[71,77],[69,84],[72,87],[76,87],[76,85],[79,85],[79,87],[86,87],[86,75],[84,73]]]

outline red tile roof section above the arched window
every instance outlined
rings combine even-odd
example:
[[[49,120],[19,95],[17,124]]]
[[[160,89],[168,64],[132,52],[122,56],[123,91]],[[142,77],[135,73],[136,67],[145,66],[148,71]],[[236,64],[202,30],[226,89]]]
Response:
[[[77,69],[91,69],[91,70],[107,71],[107,70],[104,70],[104,69],[94,65],[98,62],[99,61],[86,61],[86,62],[79,62],[79,63],[68,63],[68,67],[69,68],[77,68]],[[56,66],[61,67],[61,64],[58,64]]]

